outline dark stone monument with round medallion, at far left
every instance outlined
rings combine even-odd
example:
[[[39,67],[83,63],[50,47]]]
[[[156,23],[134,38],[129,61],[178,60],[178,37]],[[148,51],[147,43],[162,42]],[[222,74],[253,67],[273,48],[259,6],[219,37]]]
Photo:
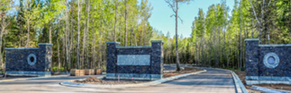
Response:
[[[52,44],[36,48],[5,47],[7,75],[50,76]]]

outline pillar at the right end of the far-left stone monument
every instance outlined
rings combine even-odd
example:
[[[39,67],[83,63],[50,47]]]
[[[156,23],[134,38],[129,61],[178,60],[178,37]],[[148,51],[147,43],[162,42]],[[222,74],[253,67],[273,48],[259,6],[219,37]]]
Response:
[[[44,76],[50,76],[51,71],[51,57],[52,57],[52,44],[49,43],[39,43],[39,59],[41,63],[44,63]]]

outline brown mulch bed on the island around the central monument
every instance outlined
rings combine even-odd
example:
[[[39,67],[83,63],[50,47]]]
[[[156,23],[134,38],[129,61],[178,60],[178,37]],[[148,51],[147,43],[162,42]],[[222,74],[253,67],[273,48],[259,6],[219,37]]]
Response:
[[[176,76],[179,74],[190,73],[190,72],[198,72],[203,71],[201,69],[196,68],[185,68],[184,71],[181,72],[165,72],[163,74],[163,78],[168,78],[172,76]],[[137,83],[144,83],[149,82],[152,80],[113,80],[113,79],[97,79],[96,77],[90,77],[86,80],[74,80],[72,82],[77,83],[86,83],[86,84],[100,84],[100,85],[119,85],[119,84],[137,84]]]

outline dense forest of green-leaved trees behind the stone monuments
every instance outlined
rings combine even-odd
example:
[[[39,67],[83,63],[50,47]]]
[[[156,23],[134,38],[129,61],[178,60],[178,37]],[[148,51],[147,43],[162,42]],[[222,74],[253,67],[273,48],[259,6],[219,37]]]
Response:
[[[53,72],[105,69],[106,41],[136,47],[163,40],[164,63],[176,63],[177,39],[180,63],[228,69],[244,67],[245,38],[259,38],[260,44],[291,43],[291,0],[235,0],[234,6],[222,0],[207,12],[199,9],[189,38],[152,28],[154,7],[149,0],[1,0],[0,4],[2,70],[5,47],[38,47],[38,43],[53,44]]]

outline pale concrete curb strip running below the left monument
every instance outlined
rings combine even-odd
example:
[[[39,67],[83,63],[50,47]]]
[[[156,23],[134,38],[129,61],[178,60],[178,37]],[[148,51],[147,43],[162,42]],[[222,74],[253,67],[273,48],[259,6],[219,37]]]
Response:
[[[50,77],[20,78],[20,79],[0,80],[0,82],[16,81],[16,80],[35,80],[35,79],[45,79],[45,78],[58,78],[58,77],[68,77],[68,76],[69,75],[56,75],[56,76],[50,76]]]

